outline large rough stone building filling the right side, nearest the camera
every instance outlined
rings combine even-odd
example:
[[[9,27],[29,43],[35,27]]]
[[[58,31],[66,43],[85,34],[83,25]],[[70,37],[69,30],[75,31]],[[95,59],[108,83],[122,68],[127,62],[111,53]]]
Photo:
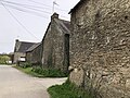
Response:
[[[130,98],[130,1],[80,0],[69,13],[70,81],[95,98]]]

